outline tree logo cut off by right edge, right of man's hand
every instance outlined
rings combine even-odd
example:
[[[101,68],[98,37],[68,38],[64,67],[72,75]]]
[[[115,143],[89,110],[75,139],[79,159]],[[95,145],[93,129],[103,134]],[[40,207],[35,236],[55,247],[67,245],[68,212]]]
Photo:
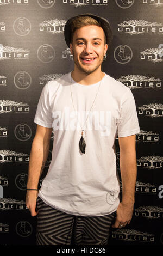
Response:
[[[143,218],[162,218],[163,208],[159,206],[140,206],[135,209],[134,216]]]

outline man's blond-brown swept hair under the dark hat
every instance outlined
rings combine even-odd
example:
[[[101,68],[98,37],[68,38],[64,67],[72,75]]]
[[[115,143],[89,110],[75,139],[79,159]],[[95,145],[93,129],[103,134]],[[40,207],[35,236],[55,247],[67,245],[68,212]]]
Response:
[[[83,16],[83,17],[74,18],[71,22],[71,42],[73,41],[73,34],[76,31],[76,29],[79,29],[79,28],[82,28],[82,27],[88,26],[88,25],[96,25],[96,26],[102,28],[101,24],[97,20],[93,19],[92,17]],[[105,32],[104,32],[104,39],[105,39],[105,44],[106,44]]]

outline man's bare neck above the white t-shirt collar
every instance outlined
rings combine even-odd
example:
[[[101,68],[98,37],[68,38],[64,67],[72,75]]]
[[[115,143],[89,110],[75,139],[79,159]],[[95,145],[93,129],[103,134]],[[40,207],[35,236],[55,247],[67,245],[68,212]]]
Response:
[[[84,72],[78,72],[75,69],[72,71],[72,78],[75,82],[83,84],[85,86],[90,86],[91,84],[98,83],[105,74],[99,70],[98,72],[92,72],[91,74],[87,75]]]

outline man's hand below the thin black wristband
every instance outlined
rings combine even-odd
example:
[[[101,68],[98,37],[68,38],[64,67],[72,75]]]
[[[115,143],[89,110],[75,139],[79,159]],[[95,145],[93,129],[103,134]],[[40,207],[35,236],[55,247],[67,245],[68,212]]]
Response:
[[[38,191],[35,190],[27,190],[26,194],[26,205],[30,211],[31,216],[36,216],[38,212],[36,209],[36,200],[37,200]]]

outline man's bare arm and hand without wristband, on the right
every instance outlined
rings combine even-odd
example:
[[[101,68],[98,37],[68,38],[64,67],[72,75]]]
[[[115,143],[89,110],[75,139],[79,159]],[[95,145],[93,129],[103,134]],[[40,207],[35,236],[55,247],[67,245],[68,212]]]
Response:
[[[113,228],[122,228],[130,223],[133,216],[136,184],[136,149],[135,135],[119,137],[120,170],[122,180],[122,200],[116,211],[116,221]]]

